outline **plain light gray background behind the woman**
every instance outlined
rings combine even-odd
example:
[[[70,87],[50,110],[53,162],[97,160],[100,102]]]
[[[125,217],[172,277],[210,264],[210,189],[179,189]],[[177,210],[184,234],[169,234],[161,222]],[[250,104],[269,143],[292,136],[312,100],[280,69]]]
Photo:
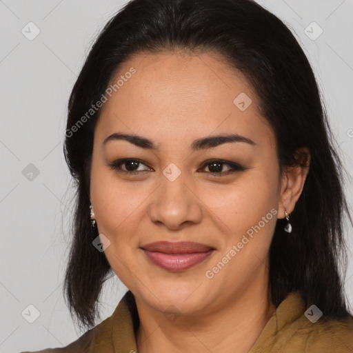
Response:
[[[63,159],[68,97],[94,37],[126,1],[0,0],[1,77],[1,326],[0,352],[61,347],[81,336],[62,295],[73,205]],[[261,0],[296,32],[327,105],[334,136],[349,175],[353,173],[352,0]],[[40,34],[22,33],[34,22]],[[315,21],[323,34],[305,34]],[[317,34],[317,28],[308,30]],[[32,32],[33,33],[33,32]],[[39,170],[32,181],[22,171]],[[352,178],[347,197],[352,205]],[[353,305],[353,241],[345,288]],[[104,289],[101,318],[112,314],[125,286],[114,279]],[[34,305],[28,323],[21,312]]]

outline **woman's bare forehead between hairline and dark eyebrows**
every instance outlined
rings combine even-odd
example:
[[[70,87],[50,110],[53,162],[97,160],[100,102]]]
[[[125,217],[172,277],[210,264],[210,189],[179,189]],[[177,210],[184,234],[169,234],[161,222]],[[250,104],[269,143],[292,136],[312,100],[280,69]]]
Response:
[[[97,124],[101,139],[113,130],[157,144],[220,132],[273,139],[248,80],[214,54],[137,54],[114,74],[114,84]]]

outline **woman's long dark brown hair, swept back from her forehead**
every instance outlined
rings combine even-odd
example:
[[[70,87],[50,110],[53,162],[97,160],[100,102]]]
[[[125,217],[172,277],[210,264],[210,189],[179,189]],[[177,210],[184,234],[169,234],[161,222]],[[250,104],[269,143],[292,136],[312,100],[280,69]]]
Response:
[[[64,154],[77,188],[72,247],[65,274],[65,299],[85,327],[94,325],[102,285],[112,274],[103,252],[92,246],[90,165],[101,99],[121,63],[132,54],[184,50],[221,54],[240,70],[261,99],[274,130],[280,170],[303,165],[296,153],[310,151],[310,169],[291,215],[293,232],[278,219],[270,245],[270,288],[279,305],[299,291],[326,318],[350,316],[341,267],[346,250],[343,165],[327,122],[314,73],[284,23],[252,0],[132,0],[108,21],[92,46],[68,103]],[[84,120],[84,123],[82,121]]]

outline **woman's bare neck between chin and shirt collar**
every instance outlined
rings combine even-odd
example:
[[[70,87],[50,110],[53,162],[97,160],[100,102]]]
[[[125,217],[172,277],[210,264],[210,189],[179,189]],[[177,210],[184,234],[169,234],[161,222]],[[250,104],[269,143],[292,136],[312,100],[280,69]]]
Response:
[[[137,301],[138,352],[247,353],[276,311],[268,291],[258,293],[246,291],[228,305],[220,303],[212,312],[181,315],[173,322]]]

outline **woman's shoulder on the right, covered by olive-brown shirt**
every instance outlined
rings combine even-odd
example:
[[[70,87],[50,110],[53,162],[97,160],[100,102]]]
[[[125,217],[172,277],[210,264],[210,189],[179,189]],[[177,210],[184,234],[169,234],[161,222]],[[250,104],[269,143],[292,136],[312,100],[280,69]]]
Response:
[[[310,308],[309,308],[310,309]],[[251,353],[352,353],[353,317],[315,317],[299,292],[288,295],[252,347]]]

